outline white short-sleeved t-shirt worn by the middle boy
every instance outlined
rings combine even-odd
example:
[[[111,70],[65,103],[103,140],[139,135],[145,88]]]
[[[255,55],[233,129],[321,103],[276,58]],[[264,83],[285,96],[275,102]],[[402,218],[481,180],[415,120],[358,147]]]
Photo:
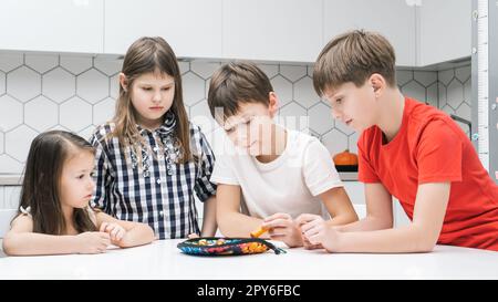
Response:
[[[252,217],[287,212],[295,218],[308,212],[328,219],[318,195],[343,186],[331,155],[318,138],[295,131],[287,133],[286,149],[268,164],[236,149],[226,139],[210,180],[240,186],[242,207]]]

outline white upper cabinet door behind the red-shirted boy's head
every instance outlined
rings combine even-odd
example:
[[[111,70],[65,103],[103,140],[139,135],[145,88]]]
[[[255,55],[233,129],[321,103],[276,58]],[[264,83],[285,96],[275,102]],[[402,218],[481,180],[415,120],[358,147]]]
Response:
[[[335,35],[349,30],[375,31],[386,37],[393,44],[396,65],[415,65],[415,8],[408,6],[406,1],[324,0],[323,10],[324,45]]]

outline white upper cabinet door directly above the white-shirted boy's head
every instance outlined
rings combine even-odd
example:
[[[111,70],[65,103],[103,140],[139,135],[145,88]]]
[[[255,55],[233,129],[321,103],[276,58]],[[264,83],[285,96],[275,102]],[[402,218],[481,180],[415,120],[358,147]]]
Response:
[[[222,56],[314,62],[323,45],[322,0],[224,0]]]

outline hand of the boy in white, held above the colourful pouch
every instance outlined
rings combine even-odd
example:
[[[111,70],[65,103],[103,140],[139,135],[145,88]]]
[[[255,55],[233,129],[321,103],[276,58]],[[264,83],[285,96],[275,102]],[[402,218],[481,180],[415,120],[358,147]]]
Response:
[[[302,247],[301,231],[292,217],[284,212],[264,218],[262,228],[269,229],[270,238],[283,241],[289,248]]]

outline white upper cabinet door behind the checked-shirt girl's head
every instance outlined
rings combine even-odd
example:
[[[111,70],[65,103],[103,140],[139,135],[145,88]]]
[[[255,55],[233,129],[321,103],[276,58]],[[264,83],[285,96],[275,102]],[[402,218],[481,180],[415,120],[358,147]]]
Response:
[[[105,53],[159,35],[177,56],[221,58],[221,0],[106,0],[104,23]]]

